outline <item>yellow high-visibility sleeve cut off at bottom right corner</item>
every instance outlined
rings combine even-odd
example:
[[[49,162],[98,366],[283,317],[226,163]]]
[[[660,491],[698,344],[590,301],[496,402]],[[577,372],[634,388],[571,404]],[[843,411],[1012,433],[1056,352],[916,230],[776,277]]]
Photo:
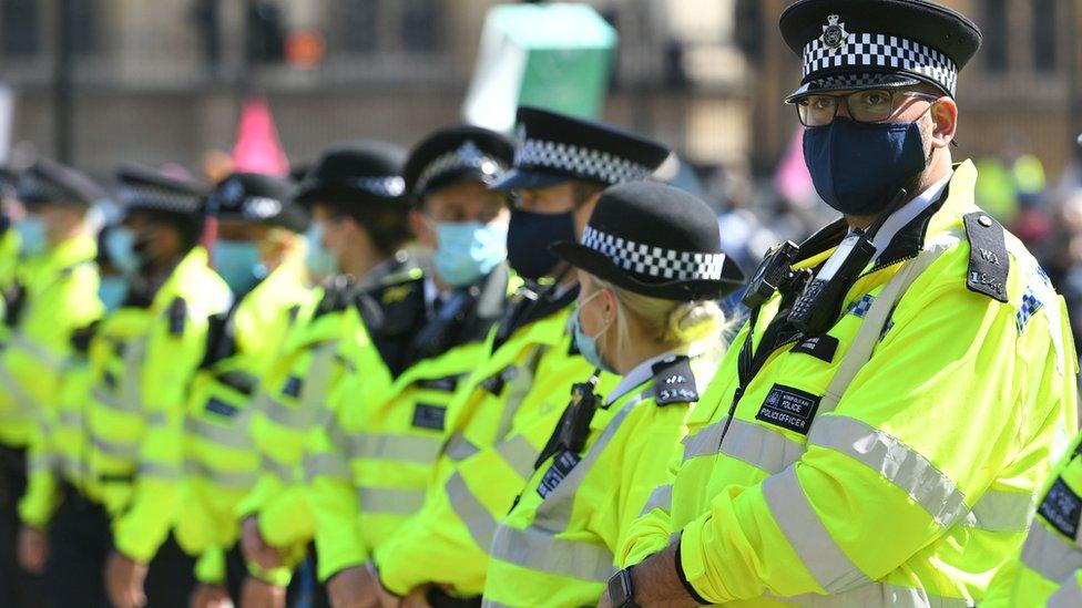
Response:
[[[988,588],[981,607],[1082,606],[1082,435],[1044,484],[1019,555]]]

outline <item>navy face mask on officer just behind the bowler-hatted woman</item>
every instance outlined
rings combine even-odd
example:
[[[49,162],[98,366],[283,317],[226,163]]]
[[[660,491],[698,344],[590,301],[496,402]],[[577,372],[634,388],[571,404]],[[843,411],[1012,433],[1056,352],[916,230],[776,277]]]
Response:
[[[573,212],[538,214],[511,209],[508,261],[522,278],[538,280],[550,275],[555,268],[557,257],[549,253],[549,246],[574,240]]]

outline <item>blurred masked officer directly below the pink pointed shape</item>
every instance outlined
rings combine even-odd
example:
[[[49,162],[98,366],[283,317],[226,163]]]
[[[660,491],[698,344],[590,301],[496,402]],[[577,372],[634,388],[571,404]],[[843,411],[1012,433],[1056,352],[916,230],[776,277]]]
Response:
[[[186,398],[183,504],[176,542],[197,558],[192,605],[239,601],[245,566],[233,546],[234,509],[255,484],[258,453],[247,427],[249,402],[307,302],[304,231],[308,214],[293,184],[268,175],[226,177],[208,198],[218,219],[217,269],[237,295],[210,320],[203,361]]]

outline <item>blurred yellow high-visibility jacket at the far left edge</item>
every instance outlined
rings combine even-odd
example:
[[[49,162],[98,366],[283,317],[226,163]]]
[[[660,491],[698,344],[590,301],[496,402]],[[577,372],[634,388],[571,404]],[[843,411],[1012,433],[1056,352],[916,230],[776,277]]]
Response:
[[[104,312],[96,253],[93,237],[80,236],[20,262],[22,295],[0,353],[0,443],[25,446],[52,415],[72,334]]]

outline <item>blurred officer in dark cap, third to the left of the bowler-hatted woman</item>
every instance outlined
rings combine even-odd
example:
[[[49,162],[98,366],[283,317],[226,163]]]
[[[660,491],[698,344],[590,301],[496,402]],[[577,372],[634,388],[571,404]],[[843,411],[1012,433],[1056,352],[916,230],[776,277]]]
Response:
[[[370,339],[354,296],[365,287],[390,287],[421,276],[417,260],[402,250],[409,235],[405,157],[406,151],[382,142],[339,144],[324,153],[296,193],[296,202],[312,210],[314,220],[309,269],[326,278],[253,404],[252,434],[262,473],[237,506],[242,549],[255,574],[246,583],[253,601],[285,601],[284,587],[313,538],[302,454],[307,435],[326,420],[327,396],[358,364],[390,381],[379,357],[366,348]],[[365,355],[371,357],[357,361]],[[303,569],[310,575],[310,564]]]

